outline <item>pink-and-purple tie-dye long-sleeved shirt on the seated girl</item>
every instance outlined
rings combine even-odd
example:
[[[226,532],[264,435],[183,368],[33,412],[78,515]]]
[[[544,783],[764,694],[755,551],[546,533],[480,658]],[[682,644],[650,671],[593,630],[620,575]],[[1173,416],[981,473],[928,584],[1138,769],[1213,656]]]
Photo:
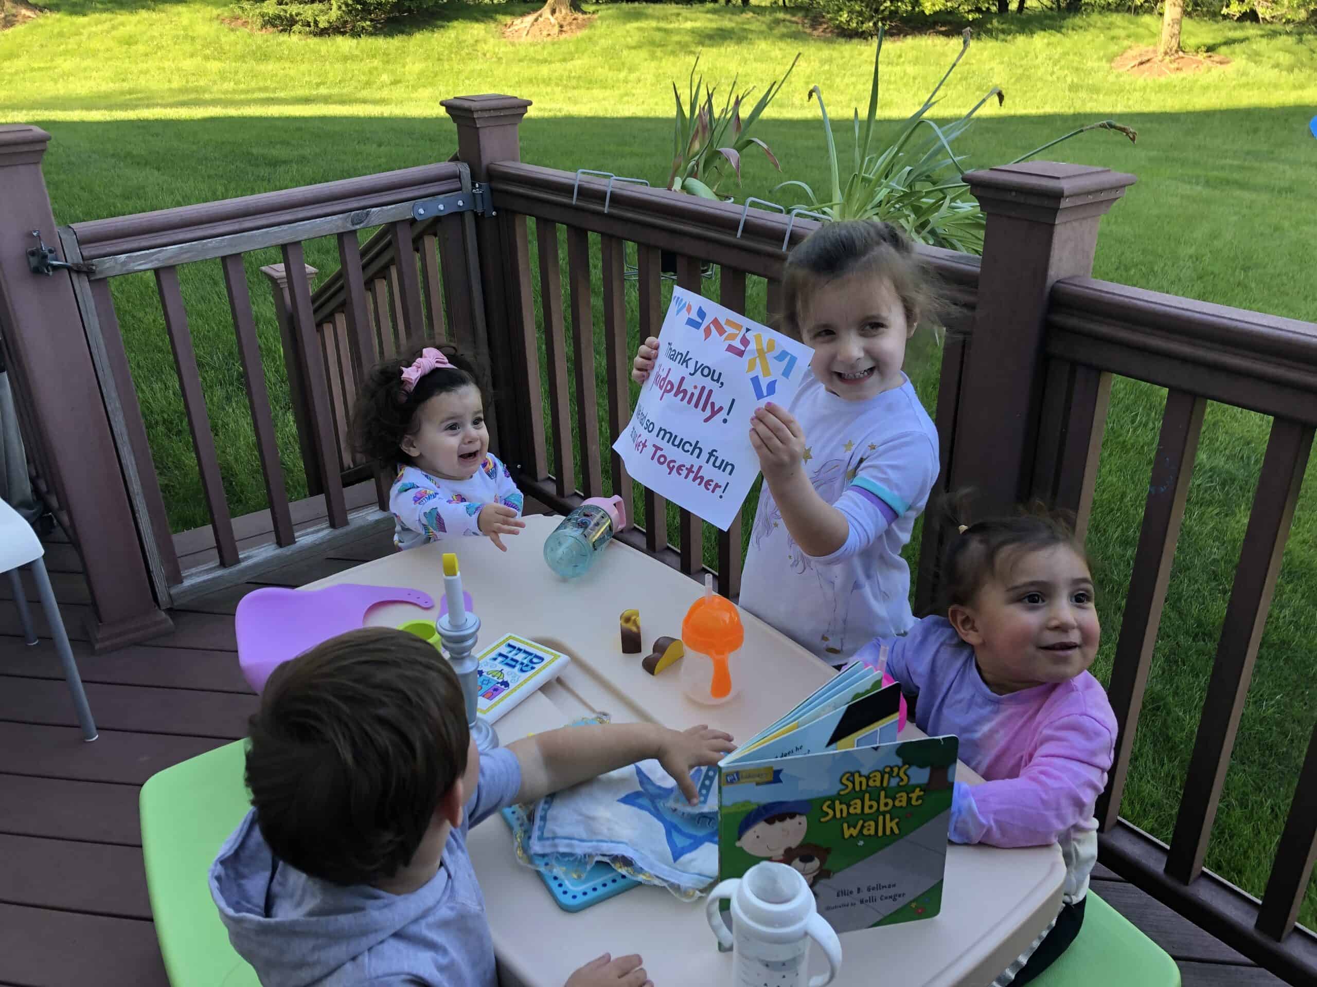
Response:
[[[856,661],[877,663],[873,641]],[[954,733],[960,759],[985,779],[956,784],[951,840],[993,846],[1059,842],[1067,901],[1088,890],[1097,859],[1093,807],[1115,753],[1115,715],[1087,671],[1068,682],[997,695],[975,653],[943,617],[925,617],[889,638],[888,671],[918,696],[915,724],[930,736]]]

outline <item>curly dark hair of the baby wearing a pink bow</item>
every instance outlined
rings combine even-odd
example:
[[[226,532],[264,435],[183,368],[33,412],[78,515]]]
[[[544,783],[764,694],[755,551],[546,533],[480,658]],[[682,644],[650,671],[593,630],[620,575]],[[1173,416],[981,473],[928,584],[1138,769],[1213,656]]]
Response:
[[[352,416],[353,443],[357,451],[385,467],[412,463],[412,458],[403,451],[402,442],[419,428],[416,412],[431,397],[474,387],[481,392],[481,399],[485,399],[485,387],[475,363],[446,343],[427,346],[448,357],[452,368],[432,370],[416,382],[415,388],[407,391],[403,388],[403,370],[425,349],[417,346],[396,359],[375,365],[357,396]]]

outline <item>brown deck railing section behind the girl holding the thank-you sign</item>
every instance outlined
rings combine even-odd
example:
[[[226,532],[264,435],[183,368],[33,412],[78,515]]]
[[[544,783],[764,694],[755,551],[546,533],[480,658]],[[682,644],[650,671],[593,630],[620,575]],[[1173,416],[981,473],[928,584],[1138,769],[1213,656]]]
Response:
[[[632,484],[620,458],[610,455],[610,483],[605,484],[602,475],[591,325],[591,241],[598,238],[602,267],[605,384],[610,415],[605,447],[608,447],[631,413],[631,355],[639,340],[657,334],[662,320],[664,253],[673,258],[676,283],[693,291],[711,291],[703,286],[702,272],[706,267],[716,270],[719,301],[736,311],[745,309],[748,282],[763,279],[766,317],[772,320],[777,315],[778,279],[785,258],[782,245],[788,240],[799,242],[817,222],[520,162],[494,163],[487,175],[503,218],[500,233],[510,263],[506,292],[512,305],[507,332],[519,354],[514,390],[525,396],[518,420],[520,434],[527,437],[519,480],[537,499],[564,511],[601,492],[620,495],[632,509]],[[537,270],[532,270],[529,262],[531,222],[535,224]],[[560,228],[566,240],[570,333],[558,270]],[[927,254],[963,307],[961,318],[967,320],[973,309],[977,259],[942,250]],[[626,259],[632,255],[636,262],[631,275],[637,286],[633,322],[626,317]],[[536,299],[539,324],[535,321]],[[544,343],[543,367],[539,340]],[[574,429],[569,357],[576,383]],[[959,376],[961,357],[959,343],[947,349],[944,378]],[[548,429],[540,408],[541,379],[548,387]],[[577,443],[572,441],[573,434],[578,437]],[[579,447],[579,463],[574,461],[574,445]],[[579,487],[576,483],[578,470]],[[678,512],[677,538],[670,545],[665,504],[652,491],[644,491],[644,516],[645,525],[631,536],[637,546],[684,572],[705,571],[705,533],[698,517]],[[709,571],[716,572],[722,591],[730,596],[735,596],[740,586],[740,532],[738,517],[728,530],[718,533],[716,549],[710,551],[718,565]]]

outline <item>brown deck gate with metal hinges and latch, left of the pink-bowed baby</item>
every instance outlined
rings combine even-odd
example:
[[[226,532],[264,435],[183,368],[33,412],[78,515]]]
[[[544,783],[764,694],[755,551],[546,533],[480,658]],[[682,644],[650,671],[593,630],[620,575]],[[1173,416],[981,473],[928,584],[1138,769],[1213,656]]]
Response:
[[[353,453],[348,420],[356,382],[381,355],[433,336],[443,326],[439,295],[440,251],[435,230],[445,238],[444,278],[450,305],[465,304],[473,279],[465,263],[460,215],[424,226],[421,258],[414,247],[412,207],[417,200],[471,193],[470,172],[461,163],[428,164],[402,171],[332,182],[284,192],[233,199],[138,216],[95,220],[59,230],[63,253],[94,270],[75,272],[72,287],[96,366],[112,433],[119,443],[128,494],[144,533],[142,549],[157,600],[188,596],[242,582],[262,566],[281,565],[295,554],[324,547],[333,532],[378,517],[374,508],[349,512],[345,486],[369,479],[373,468]],[[452,203],[449,203],[452,207]],[[389,257],[371,241],[362,258],[358,230],[381,226]],[[303,243],[335,237],[341,270],[319,309],[312,299]],[[275,442],[270,399],[261,365],[257,328],[244,255],[279,247],[283,263],[265,268],[275,284],[275,311],[283,342],[294,416],[308,490],[323,497],[327,524],[295,532]],[[398,258],[407,254],[407,259]],[[452,258],[452,259],[449,259]],[[265,478],[274,545],[258,544],[240,553],[234,519],[224,492],[205,395],[179,283],[179,267],[219,259],[228,293],[244,383],[250,404],[257,451]],[[421,276],[424,270],[424,280]],[[151,271],[174,354],[183,408],[211,516],[213,563],[184,571],[151,461],[119,328],[109,279]],[[423,297],[423,284],[425,297]],[[367,288],[369,286],[369,288]],[[478,286],[474,288],[478,291]],[[428,300],[428,305],[427,305]],[[456,312],[470,324],[466,312]],[[55,474],[58,476],[58,472]],[[379,507],[383,507],[381,484]],[[360,497],[356,500],[360,501]],[[282,551],[277,551],[282,550]]]

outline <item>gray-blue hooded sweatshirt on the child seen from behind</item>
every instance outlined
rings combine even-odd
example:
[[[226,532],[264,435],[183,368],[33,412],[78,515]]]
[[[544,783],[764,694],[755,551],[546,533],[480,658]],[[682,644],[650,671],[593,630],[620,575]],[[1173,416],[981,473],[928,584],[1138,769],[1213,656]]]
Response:
[[[485,898],[466,851],[468,826],[508,805],[516,755],[481,757],[479,782],[439,871],[407,895],[344,887],[279,861],[246,815],[211,865],[211,898],[263,987],[495,987]]]

